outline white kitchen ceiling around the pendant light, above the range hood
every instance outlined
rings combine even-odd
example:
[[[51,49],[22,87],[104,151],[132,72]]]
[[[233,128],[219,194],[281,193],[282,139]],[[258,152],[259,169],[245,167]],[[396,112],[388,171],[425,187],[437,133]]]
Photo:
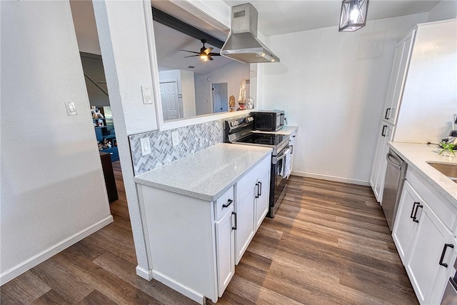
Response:
[[[338,26],[341,0],[224,0],[229,6],[250,2],[258,11],[258,31],[265,36]],[[428,13],[440,1],[370,0],[367,20]]]

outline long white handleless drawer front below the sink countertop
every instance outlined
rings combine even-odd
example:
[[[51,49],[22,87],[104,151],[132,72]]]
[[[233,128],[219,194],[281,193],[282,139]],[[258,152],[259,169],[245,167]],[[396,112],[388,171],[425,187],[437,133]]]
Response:
[[[456,209],[441,194],[438,193],[428,182],[423,179],[417,171],[408,169],[406,171],[406,181],[413,186],[418,194],[427,202],[431,210],[443,221],[448,229],[453,229],[456,224]]]

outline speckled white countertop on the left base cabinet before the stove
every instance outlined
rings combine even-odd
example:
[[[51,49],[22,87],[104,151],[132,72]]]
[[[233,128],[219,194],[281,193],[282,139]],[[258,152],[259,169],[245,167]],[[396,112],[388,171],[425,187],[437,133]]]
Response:
[[[135,177],[135,182],[205,201],[214,201],[272,149],[219,143]]]

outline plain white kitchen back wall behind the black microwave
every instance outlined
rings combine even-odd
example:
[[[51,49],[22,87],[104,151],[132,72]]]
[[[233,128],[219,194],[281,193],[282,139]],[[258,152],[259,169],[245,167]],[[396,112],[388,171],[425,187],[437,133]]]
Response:
[[[396,41],[427,17],[268,37],[281,62],[262,68],[263,108],[284,109],[298,126],[296,174],[367,184]]]

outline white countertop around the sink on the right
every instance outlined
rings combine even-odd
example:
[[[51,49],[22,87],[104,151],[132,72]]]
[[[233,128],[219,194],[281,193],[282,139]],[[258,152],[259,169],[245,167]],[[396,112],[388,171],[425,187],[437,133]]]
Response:
[[[457,207],[457,183],[426,163],[436,161],[457,164],[457,157],[440,155],[441,148],[436,145],[388,142],[388,146],[408,163],[409,168],[417,171],[436,191]]]

